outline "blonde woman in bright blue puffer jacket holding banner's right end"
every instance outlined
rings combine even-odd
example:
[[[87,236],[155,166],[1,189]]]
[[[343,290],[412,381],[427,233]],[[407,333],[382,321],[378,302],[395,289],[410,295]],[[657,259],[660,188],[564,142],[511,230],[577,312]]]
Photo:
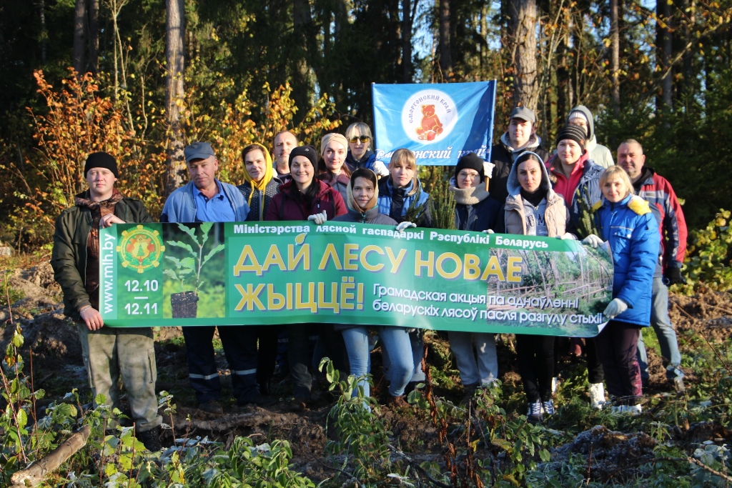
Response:
[[[648,202],[633,195],[623,168],[613,166],[600,176],[602,200],[595,219],[600,237],[583,242],[597,247],[608,241],[613,253],[613,301],[603,314],[608,324],[595,337],[597,356],[605,369],[611,397],[621,405],[614,410],[641,413],[641,369],[635,357],[641,327],[651,320],[651,288],[660,237]],[[599,207],[599,208],[598,208]],[[602,239],[601,239],[602,238]]]

